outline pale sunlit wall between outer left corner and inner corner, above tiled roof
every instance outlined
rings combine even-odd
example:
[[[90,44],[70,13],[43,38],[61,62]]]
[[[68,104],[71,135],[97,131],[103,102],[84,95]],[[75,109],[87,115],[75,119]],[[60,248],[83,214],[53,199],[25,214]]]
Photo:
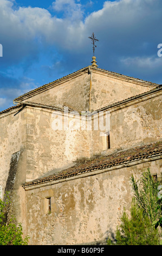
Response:
[[[70,115],[67,127],[73,116]],[[91,131],[66,130],[66,120],[63,112],[27,107],[27,181],[90,156]]]

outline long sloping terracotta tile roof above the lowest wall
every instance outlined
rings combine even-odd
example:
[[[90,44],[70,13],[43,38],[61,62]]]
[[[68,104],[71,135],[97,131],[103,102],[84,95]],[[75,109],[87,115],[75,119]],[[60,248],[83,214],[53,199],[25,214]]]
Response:
[[[82,173],[92,173],[94,170],[106,169],[119,164],[129,163],[135,160],[147,159],[152,156],[162,155],[162,141],[141,145],[127,150],[121,150],[108,156],[92,157],[80,164],[62,170],[59,173],[25,182],[22,186],[28,187],[44,182],[65,179]]]

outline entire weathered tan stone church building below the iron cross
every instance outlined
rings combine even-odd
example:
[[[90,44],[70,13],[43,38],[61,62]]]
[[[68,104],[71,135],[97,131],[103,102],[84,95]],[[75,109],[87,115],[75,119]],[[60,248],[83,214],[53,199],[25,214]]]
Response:
[[[14,102],[0,113],[0,186],[2,197],[12,192],[24,235],[31,245],[105,239],[129,210],[132,173],[161,174],[161,86],[88,66]],[[100,114],[104,129],[94,129]],[[149,154],[132,159],[129,150],[145,145]],[[94,156],[100,166],[83,172]]]

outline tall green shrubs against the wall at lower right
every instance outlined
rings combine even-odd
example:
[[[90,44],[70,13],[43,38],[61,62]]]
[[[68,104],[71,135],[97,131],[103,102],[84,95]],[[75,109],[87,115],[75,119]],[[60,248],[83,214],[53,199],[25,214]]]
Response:
[[[141,179],[131,178],[134,197],[130,210],[121,217],[120,227],[116,229],[115,242],[108,245],[160,245],[161,198],[158,198],[159,181],[154,181],[150,169],[142,173]]]

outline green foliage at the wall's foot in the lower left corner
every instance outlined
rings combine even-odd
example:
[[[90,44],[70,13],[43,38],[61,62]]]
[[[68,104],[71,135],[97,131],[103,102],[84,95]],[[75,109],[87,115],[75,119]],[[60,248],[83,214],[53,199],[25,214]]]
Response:
[[[0,245],[28,245],[29,237],[22,239],[21,223],[17,226],[13,217],[7,221],[6,214],[9,204],[8,197],[5,202],[0,199]]]

